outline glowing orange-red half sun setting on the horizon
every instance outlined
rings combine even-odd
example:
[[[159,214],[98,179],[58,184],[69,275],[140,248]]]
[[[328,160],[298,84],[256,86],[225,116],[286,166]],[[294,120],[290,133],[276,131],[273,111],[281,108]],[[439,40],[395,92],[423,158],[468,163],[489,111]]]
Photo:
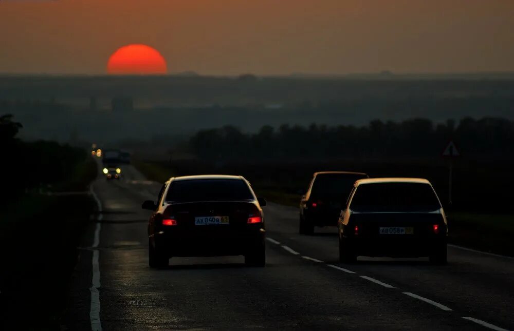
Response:
[[[109,57],[107,72],[110,74],[166,74],[168,67],[164,57],[154,48],[132,44],[119,48]]]

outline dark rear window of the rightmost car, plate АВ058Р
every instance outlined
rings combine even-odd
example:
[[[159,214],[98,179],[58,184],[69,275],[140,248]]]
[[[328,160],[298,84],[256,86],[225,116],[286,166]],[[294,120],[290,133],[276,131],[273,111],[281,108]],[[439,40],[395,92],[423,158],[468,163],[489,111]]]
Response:
[[[358,212],[423,212],[441,205],[429,184],[376,183],[358,186],[350,208]]]

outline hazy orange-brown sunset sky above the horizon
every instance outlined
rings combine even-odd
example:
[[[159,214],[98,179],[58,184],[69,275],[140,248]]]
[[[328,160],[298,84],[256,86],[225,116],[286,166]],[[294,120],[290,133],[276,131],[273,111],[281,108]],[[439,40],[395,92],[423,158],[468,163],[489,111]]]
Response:
[[[170,73],[514,71],[512,0],[2,0],[0,73],[104,74],[127,44]]]

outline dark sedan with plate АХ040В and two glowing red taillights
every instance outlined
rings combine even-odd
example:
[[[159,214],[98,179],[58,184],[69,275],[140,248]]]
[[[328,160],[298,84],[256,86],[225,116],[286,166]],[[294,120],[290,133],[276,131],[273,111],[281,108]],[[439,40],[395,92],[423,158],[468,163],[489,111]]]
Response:
[[[244,255],[245,263],[264,266],[265,228],[262,206],[241,176],[171,178],[148,224],[150,267],[166,267],[171,257]]]

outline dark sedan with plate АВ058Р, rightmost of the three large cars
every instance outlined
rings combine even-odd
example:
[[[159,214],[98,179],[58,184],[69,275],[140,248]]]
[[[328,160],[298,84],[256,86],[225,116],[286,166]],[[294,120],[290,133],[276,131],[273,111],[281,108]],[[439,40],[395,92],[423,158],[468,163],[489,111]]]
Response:
[[[447,262],[445,212],[426,179],[375,178],[355,183],[339,217],[339,259],[429,257]]]

